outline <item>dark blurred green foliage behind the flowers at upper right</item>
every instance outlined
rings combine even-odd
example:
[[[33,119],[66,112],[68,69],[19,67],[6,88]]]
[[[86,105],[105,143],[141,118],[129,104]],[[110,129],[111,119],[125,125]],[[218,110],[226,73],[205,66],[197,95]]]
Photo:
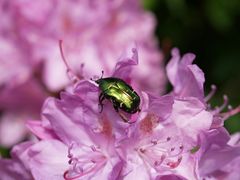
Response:
[[[213,106],[221,105],[223,94],[230,104],[240,104],[240,1],[239,0],[143,0],[143,6],[157,18],[156,35],[166,63],[172,47],[196,54],[195,63],[217,93]],[[240,130],[240,115],[226,121],[231,133]]]

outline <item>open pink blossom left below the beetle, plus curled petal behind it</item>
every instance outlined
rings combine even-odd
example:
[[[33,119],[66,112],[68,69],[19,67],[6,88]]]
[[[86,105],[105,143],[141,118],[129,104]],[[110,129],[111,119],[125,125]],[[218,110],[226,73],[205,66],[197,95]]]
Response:
[[[114,74],[128,79],[129,74],[121,69],[129,73],[134,64],[137,64],[136,50],[132,58],[117,64]],[[12,154],[35,179],[117,179],[120,176],[124,161],[115,145],[129,124],[122,122],[110,104],[99,113],[98,92],[93,82],[80,81],[73,94],[65,92],[61,100],[49,98],[45,102],[42,122],[28,123],[40,141],[29,147],[20,144]]]

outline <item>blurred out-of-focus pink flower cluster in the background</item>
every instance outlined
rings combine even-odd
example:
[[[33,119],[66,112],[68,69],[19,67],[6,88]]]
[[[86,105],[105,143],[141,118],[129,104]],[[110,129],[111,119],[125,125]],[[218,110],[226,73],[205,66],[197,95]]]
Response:
[[[26,138],[26,119],[39,119],[44,99],[69,85],[58,41],[78,77],[111,75],[117,58],[136,43],[134,82],[164,91],[155,19],[138,0],[0,0],[0,145]],[[152,77],[149,72],[154,73]]]

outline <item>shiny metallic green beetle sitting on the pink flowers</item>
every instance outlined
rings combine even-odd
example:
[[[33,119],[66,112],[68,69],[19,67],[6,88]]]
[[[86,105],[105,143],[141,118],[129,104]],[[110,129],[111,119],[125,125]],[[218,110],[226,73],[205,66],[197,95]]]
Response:
[[[103,109],[103,100],[108,99],[112,102],[114,109],[119,113],[121,118],[127,122],[127,118],[119,112],[134,114],[140,111],[140,97],[125,81],[116,77],[100,78],[95,80],[101,89],[99,95],[99,105]],[[100,111],[100,112],[101,112]]]

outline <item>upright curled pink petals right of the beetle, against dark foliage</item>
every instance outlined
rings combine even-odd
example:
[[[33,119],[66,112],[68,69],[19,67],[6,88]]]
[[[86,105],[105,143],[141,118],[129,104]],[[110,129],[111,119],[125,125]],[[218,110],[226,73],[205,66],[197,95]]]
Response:
[[[178,49],[172,50],[172,59],[167,64],[167,76],[174,87],[174,94],[178,97],[197,97],[204,102],[203,83],[204,73],[192,64],[195,55],[184,54],[181,58]]]

